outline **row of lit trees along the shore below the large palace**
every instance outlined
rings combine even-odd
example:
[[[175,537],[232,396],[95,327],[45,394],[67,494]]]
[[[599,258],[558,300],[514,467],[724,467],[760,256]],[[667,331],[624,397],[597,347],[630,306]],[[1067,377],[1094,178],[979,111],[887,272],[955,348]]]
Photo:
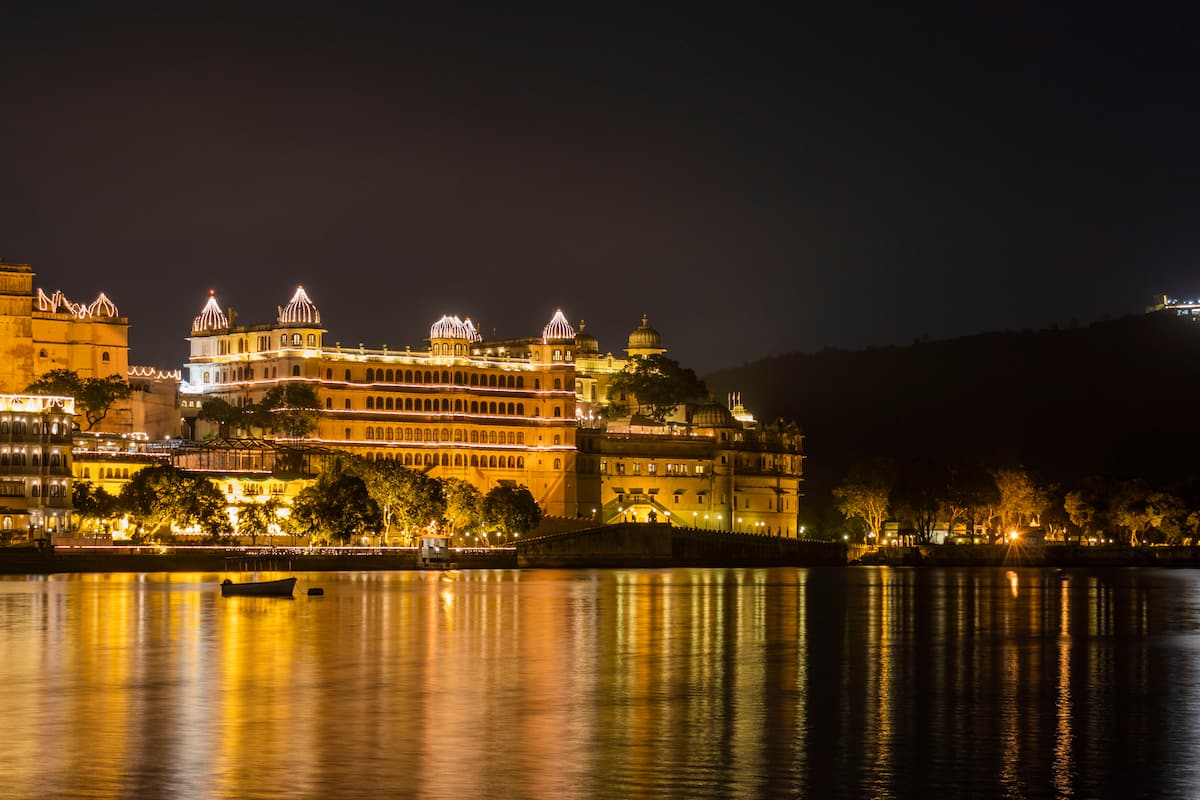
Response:
[[[229,513],[224,494],[203,476],[169,464],[146,467],[118,495],[89,481],[73,485],[77,529],[110,530],[126,519],[136,541],[174,541],[176,531],[210,542],[284,534],[312,543],[349,543],[364,536],[413,543],[440,533],[462,545],[490,546],[533,530],[541,509],[523,486],[486,494],[467,481],[434,479],[391,461],[334,459],[295,501],[247,498]]]

